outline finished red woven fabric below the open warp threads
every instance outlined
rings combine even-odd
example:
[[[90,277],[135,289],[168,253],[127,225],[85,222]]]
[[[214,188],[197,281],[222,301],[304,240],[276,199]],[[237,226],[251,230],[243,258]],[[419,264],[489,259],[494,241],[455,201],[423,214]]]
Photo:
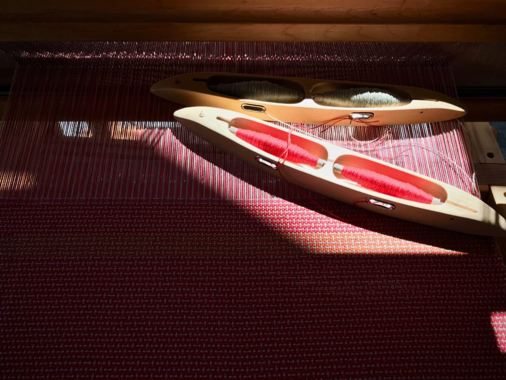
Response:
[[[491,239],[308,208],[1,202],[3,376],[506,376]]]

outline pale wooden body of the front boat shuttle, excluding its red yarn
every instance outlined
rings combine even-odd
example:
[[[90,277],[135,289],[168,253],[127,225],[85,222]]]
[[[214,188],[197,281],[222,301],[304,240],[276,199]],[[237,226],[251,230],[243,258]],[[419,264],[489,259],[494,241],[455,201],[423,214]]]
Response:
[[[232,155],[289,182],[338,201],[357,204],[384,215],[468,234],[506,236],[506,220],[480,199],[447,183],[391,165],[316,137],[261,121],[242,113],[215,107],[177,110],[175,118],[188,130]],[[306,165],[272,155],[236,136],[234,124],[267,134],[306,149],[319,158]],[[345,177],[340,169],[353,167],[381,173],[393,181],[415,186],[433,199],[430,204],[374,191]],[[280,174],[280,171],[282,174]]]

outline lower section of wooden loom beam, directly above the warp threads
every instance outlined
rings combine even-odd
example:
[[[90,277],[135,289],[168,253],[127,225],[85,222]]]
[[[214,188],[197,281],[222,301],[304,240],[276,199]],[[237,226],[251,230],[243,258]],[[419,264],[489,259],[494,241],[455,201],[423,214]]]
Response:
[[[506,42],[506,25],[2,22],[3,41]]]

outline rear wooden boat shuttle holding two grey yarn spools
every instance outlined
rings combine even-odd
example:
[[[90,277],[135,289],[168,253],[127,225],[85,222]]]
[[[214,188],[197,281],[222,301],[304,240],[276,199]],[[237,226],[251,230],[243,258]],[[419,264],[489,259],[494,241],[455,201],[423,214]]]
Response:
[[[151,92],[188,106],[262,113],[264,120],[307,124],[334,118],[349,118],[355,125],[431,123],[466,114],[462,104],[436,91],[362,82],[203,72],[167,78],[155,83]]]

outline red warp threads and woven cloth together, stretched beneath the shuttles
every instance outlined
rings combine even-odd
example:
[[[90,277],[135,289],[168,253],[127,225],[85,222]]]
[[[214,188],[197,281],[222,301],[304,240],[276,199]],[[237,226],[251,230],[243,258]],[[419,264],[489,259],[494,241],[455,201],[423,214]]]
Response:
[[[0,130],[6,378],[506,376],[493,238],[272,178],[184,130],[181,106],[149,92],[220,70],[455,96],[444,56],[405,45],[403,62],[363,65],[346,44],[1,46],[17,62]],[[323,137],[372,155],[382,133]],[[478,197],[465,134],[455,120],[393,126],[382,153]]]

